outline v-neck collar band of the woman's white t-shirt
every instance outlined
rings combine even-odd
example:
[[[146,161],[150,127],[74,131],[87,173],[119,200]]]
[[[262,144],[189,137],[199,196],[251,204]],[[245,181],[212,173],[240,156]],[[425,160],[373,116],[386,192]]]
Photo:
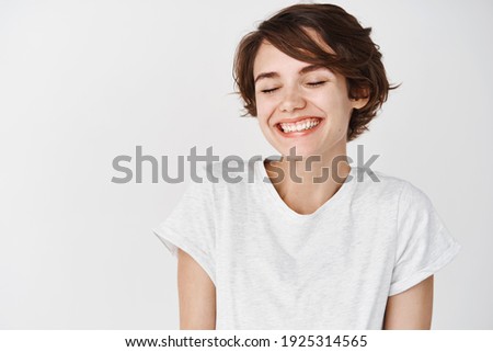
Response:
[[[274,184],[272,183],[271,179],[267,175],[267,171],[265,170],[265,161],[268,159],[264,159],[261,161],[255,162],[255,174],[256,174],[256,181],[261,182],[263,185],[261,186],[262,190],[264,190],[266,193],[268,193],[268,197],[271,198],[274,206],[286,217],[295,220],[302,220],[302,219],[311,219],[317,216],[319,216],[322,213],[325,213],[328,209],[334,207],[337,203],[344,200],[345,196],[349,193],[351,189],[356,183],[356,168],[351,167],[348,177],[345,179],[344,183],[341,185],[341,188],[335,192],[334,195],[332,195],[325,203],[323,203],[317,211],[310,214],[299,214],[291,209],[280,197],[280,195],[277,193]],[[265,181],[264,181],[265,180]]]

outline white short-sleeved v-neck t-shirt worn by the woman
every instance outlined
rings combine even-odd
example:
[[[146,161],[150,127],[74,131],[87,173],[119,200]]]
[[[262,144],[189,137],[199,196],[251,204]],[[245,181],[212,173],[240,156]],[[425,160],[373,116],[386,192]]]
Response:
[[[378,171],[352,166],[340,190],[302,215],[284,203],[262,161],[229,173],[238,183],[223,180],[220,162],[211,169],[218,182],[199,170],[204,183],[191,183],[152,230],[210,276],[218,330],[382,329],[388,297],[461,248],[420,189]]]

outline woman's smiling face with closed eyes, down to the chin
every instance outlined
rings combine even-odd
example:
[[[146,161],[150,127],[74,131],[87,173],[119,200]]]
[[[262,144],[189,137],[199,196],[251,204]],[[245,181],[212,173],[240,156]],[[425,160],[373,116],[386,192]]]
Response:
[[[303,157],[345,152],[351,112],[367,100],[349,100],[343,76],[298,61],[265,41],[253,75],[259,124],[277,151],[287,156],[296,146]]]

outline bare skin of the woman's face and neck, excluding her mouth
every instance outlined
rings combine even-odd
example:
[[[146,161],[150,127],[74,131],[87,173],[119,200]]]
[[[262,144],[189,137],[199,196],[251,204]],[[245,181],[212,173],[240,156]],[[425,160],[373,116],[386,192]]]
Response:
[[[308,32],[316,36],[313,31]],[[326,44],[320,43],[332,52]],[[300,158],[296,162],[285,158],[266,164],[266,171],[272,179],[276,177],[272,172],[274,166],[283,170],[285,178],[274,186],[283,201],[299,214],[313,213],[341,188],[351,169],[346,160],[351,113],[368,102],[368,98],[348,98],[346,79],[342,75],[325,67],[307,71],[307,66],[268,42],[261,45],[254,61],[254,78],[259,78],[255,100],[260,128],[283,156],[289,156],[291,148],[296,148],[296,156]],[[307,136],[287,138],[279,133],[280,122],[301,116],[314,116],[322,123]],[[310,157],[319,159],[310,163]],[[302,182],[290,177],[293,167]],[[317,182],[316,178],[322,175],[323,169],[329,170],[329,177],[324,182]]]

